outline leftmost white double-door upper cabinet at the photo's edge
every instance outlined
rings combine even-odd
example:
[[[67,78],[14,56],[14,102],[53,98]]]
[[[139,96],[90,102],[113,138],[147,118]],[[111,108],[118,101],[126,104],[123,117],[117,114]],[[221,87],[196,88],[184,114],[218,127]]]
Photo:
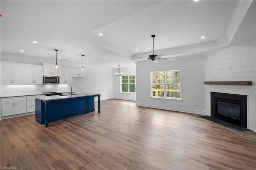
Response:
[[[24,84],[24,65],[1,62],[1,84],[22,85]]]

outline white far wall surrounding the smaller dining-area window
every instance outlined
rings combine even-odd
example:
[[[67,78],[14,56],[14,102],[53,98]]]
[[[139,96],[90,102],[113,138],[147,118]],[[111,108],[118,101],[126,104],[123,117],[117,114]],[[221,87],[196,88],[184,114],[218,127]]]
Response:
[[[134,63],[135,65],[135,63]],[[122,93],[120,92],[120,82],[121,76],[116,76],[115,73],[118,72],[118,67],[114,68],[112,71],[113,76],[113,98],[122,100],[136,101],[136,93]],[[120,66],[120,72],[124,75],[135,75],[136,67],[122,67]],[[136,83],[137,84],[137,83]]]

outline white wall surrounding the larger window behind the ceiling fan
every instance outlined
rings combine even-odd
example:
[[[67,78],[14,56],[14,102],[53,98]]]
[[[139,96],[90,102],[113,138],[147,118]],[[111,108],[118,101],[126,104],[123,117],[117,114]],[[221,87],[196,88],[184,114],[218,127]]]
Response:
[[[136,63],[136,105],[205,114],[204,55],[158,61],[154,68],[152,61]],[[177,69],[182,70],[182,100],[150,98],[150,72]]]

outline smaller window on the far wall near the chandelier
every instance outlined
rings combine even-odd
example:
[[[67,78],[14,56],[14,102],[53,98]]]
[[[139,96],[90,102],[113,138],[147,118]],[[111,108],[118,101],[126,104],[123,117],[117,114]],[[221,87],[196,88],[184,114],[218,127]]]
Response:
[[[121,77],[121,92],[135,93],[135,75],[123,75]]]

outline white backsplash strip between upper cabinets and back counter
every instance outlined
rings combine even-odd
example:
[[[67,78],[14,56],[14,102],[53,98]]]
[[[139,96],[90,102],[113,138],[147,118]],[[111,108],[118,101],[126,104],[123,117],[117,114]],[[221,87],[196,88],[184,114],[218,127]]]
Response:
[[[0,97],[40,94],[42,92],[70,92],[71,85],[1,85]]]

